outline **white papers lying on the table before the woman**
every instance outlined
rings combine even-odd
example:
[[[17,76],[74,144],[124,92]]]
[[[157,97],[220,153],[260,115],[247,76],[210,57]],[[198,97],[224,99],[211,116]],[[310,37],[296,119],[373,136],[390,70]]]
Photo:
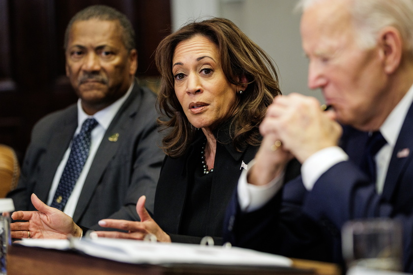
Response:
[[[239,247],[200,246],[177,243],[150,243],[110,238],[81,240],[24,239],[21,245],[67,250],[134,264],[211,264],[289,267],[292,260],[279,255]]]

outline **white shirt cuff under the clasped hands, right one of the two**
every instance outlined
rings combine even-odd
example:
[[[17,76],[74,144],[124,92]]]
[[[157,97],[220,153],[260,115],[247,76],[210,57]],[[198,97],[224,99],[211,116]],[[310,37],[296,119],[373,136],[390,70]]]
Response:
[[[327,147],[311,155],[301,165],[301,177],[305,189],[311,191],[325,171],[348,159],[349,156],[338,146]]]

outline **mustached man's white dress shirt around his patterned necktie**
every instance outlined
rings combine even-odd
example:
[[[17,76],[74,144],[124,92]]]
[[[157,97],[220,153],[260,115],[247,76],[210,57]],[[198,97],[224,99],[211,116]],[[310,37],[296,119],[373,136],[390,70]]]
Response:
[[[85,179],[89,173],[90,165],[92,165],[94,156],[97,152],[97,149],[99,148],[100,142],[103,139],[103,136],[105,135],[106,130],[108,129],[109,125],[111,124],[113,118],[117,114],[118,110],[122,106],[122,104],[125,102],[125,100],[128,98],[129,94],[132,91],[134,82],[132,82],[131,86],[129,87],[128,91],[126,92],[125,95],[123,95],[121,98],[119,98],[116,102],[111,104],[110,106],[106,107],[103,110],[100,110],[96,112],[93,116],[88,115],[85,113],[85,111],[82,109],[81,106],[81,99],[78,100],[77,102],[77,109],[78,109],[78,127],[75,131],[75,134],[73,137],[75,137],[77,134],[79,134],[83,122],[91,117],[94,117],[96,121],[99,123],[91,132],[91,140],[90,140],[90,149],[89,149],[89,157],[86,160],[85,165],[83,166],[83,170],[79,175],[79,178],[75,184],[75,187],[73,188],[72,193],[70,194],[67,203],[63,209],[63,212],[70,216],[73,217],[73,213],[75,212],[77,202],[79,200],[80,193],[82,192],[83,185],[85,183]],[[52,187],[49,192],[49,198],[47,200],[47,204],[50,205],[52,203],[53,197],[55,196],[56,189],[58,188],[59,181],[61,174],[63,173],[64,166],[66,165],[67,159],[69,158],[70,154],[70,148],[71,148],[71,143],[69,144],[69,147],[67,148],[66,152],[64,153],[63,159],[61,160],[58,169],[56,170],[55,177],[53,179]]]

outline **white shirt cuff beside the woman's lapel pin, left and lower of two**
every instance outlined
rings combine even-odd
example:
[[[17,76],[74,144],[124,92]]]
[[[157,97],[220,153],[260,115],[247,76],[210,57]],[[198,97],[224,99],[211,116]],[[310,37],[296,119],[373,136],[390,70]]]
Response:
[[[248,168],[254,165],[254,160],[248,164]],[[256,186],[247,183],[248,171],[244,170],[238,180],[238,202],[242,211],[252,212],[264,206],[282,187],[285,171],[275,177],[268,184]]]

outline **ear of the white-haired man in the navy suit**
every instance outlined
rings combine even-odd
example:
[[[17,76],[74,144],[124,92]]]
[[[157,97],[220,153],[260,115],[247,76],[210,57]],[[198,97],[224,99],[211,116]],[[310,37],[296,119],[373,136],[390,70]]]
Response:
[[[379,33],[379,47],[383,54],[384,72],[392,74],[400,65],[403,41],[395,27],[384,27]]]

